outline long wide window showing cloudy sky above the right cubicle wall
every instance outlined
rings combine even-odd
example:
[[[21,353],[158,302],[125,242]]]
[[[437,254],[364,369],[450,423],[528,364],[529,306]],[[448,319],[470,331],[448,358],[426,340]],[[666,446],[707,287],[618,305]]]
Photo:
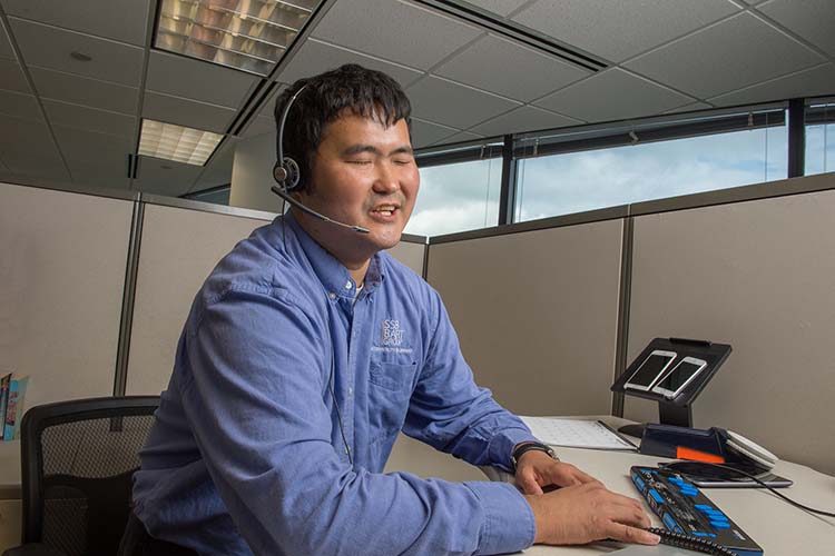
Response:
[[[542,147],[537,140],[544,138],[525,139],[518,149],[515,221],[787,176],[788,133],[783,108],[678,126],[621,128],[619,136]],[[532,156],[534,150],[548,152],[549,148],[559,153]]]

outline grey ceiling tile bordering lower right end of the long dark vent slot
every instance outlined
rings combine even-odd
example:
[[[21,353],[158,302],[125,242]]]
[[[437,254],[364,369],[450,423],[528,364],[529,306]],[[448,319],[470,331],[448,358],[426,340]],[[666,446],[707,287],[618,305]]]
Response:
[[[434,73],[485,91],[529,101],[591,72],[490,34],[475,41]]]

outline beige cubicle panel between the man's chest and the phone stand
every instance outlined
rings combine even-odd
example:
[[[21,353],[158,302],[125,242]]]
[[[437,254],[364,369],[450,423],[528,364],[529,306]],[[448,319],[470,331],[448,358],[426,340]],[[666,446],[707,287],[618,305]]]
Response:
[[[477,381],[522,415],[609,414],[622,219],[434,245],[443,297]]]

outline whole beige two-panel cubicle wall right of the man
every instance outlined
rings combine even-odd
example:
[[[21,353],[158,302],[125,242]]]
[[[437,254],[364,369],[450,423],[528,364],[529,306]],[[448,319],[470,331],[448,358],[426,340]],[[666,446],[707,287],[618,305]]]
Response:
[[[695,425],[832,474],[833,189],[829,173],[433,238],[428,280],[477,380],[514,411],[608,414],[618,369],[652,338],[728,342]],[[657,421],[657,404],[626,397],[623,417]]]

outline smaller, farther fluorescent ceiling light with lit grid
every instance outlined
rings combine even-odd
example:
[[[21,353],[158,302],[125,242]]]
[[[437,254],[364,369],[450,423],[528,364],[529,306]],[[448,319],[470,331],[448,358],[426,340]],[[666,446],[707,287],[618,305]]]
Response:
[[[139,155],[203,166],[223,138],[212,131],[143,119]]]

